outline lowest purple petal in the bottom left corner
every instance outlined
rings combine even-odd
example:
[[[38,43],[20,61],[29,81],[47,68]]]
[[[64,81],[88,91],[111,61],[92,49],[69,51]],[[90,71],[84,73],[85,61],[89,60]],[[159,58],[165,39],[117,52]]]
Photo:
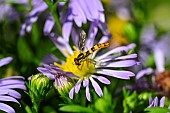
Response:
[[[0,110],[5,111],[7,113],[15,113],[15,110],[11,106],[1,102],[0,102]]]

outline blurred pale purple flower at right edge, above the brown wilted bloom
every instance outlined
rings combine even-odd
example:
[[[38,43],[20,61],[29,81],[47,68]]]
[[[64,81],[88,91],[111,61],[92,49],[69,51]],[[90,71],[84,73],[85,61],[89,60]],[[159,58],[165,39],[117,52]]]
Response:
[[[153,25],[148,25],[143,29],[140,42],[141,49],[139,51],[139,57],[142,64],[145,65],[146,60],[153,52],[157,71],[163,72],[165,65],[170,62],[170,54],[167,52],[170,49],[170,36],[164,34],[156,38],[156,28]]]

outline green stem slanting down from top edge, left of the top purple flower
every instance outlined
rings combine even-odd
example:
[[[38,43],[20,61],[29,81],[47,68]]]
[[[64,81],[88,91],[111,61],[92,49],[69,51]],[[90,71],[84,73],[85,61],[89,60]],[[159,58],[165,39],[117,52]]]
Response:
[[[50,9],[53,19],[57,25],[58,28],[58,32],[59,35],[62,36],[62,27],[61,27],[61,23],[59,20],[59,16],[57,15],[57,2],[55,2],[55,4],[53,4],[50,0],[44,0],[46,2],[46,4],[48,5],[48,8]]]

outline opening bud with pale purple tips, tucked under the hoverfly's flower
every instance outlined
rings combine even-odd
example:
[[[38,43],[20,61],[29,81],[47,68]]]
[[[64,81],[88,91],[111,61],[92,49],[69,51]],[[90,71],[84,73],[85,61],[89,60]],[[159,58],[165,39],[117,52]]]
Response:
[[[54,87],[62,96],[67,95],[70,89],[74,86],[73,80],[63,73],[57,73],[55,77]]]

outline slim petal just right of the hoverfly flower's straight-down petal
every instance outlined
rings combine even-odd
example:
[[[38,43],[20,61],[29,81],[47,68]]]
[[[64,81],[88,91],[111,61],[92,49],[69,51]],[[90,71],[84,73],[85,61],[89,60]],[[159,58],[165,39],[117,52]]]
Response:
[[[92,83],[92,86],[93,86],[95,92],[96,92],[100,97],[103,96],[103,92],[102,92],[100,86],[98,85],[98,83],[97,83],[92,77],[90,77],[90,81],[91,81],[91,83]]]

